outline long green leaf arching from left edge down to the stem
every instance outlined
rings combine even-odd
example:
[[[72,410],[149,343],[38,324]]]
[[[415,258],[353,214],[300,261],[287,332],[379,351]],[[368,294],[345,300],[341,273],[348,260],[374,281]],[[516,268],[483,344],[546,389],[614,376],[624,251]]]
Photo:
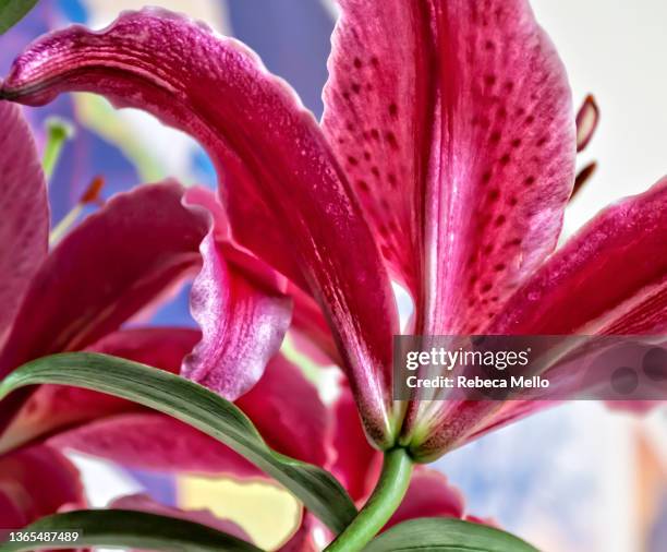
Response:
[[[356,515],[352,500],[333,476],[269,448],[239,408],[202,385],[117,357],[68,352],[44,357],[14,370],[0,383],[0,399],[19,387],[43,383],[122,397],[197,428],[282,483],[337,533]]]

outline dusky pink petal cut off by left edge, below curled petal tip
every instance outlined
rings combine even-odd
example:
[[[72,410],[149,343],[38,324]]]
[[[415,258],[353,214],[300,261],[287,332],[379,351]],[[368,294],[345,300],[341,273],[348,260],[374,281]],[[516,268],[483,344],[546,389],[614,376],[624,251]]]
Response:
[[[21,109],[0,101],[0,347],[49,242],[46,183]]]

